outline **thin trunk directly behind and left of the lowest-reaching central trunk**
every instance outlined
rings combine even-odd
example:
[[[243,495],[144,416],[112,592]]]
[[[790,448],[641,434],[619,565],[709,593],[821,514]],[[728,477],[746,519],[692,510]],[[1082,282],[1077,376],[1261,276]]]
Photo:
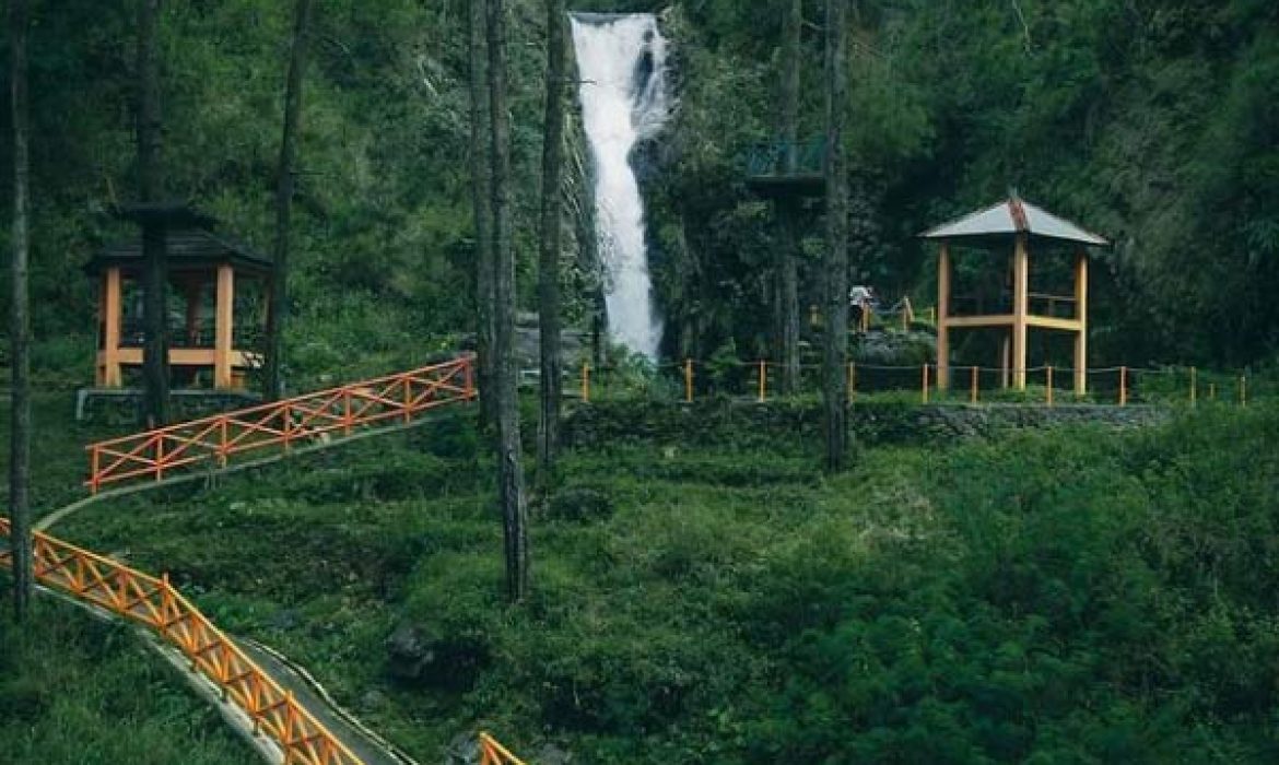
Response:
[[[490,427],[498,418],[496,390],[492,386],[492,348],[495,343],[494,265],[492,265],[492,166],[489,161],[489,86],[485,9],[487,0],[471,0],[467,31],[471,54],[471,205],[476,229],[476,357],[480,384],[480,423]]]

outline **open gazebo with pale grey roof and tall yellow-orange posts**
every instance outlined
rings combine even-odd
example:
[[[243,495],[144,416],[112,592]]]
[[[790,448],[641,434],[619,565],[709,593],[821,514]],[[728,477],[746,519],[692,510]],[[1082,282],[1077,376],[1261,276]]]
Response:
[[[940,243],[938,256],[938,386],[950,382],[950,330],[999,329],[1003,339],[1003,380],[1018,390],[1026,389],[1027,333],[1031,327],[1074,335],[1074,391],[1083,395],[1088,368],[1088,247],[1108,242],[1019,200],[1016,194],[984,210],[964,215],[920,234]],[[1010,246],[1010,301],[996,299],[995,311],[978,304],[976,311],[957,312],[952,296],[952,243],[987,251]],[[1030,290],[1031,246],[1067,244],[1073,248],[1073,289],[1068,296],[1039,294]],[[1063,311],[1064,308],[1064,311]]]

